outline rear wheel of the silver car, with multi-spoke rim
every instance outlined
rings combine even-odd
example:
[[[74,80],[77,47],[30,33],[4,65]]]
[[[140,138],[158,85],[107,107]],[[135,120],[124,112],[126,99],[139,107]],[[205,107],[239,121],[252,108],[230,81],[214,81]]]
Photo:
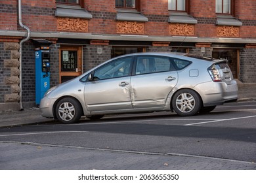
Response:
[[[198,93],[190,89],[182,89],[173,95],[171,101],[173,110],[179,116],[194,116],[202,107],[202,101]]]

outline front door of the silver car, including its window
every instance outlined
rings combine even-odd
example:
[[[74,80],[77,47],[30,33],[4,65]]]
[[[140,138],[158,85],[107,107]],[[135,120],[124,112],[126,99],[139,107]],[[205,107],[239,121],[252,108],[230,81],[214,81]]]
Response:
[[[125,110],[131,105],[131,68],[133,57],[120,58],[93,71],[85,84],[85,103],[90,112]]]

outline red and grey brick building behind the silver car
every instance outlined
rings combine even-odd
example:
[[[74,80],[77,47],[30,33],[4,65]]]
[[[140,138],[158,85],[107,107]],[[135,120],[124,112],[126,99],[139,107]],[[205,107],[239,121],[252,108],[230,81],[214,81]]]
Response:
[[[256,82],[255,37],[255,0],[1,0],[0,110],[35,106],[39,39],[51,42],[54,86],[121,54],[171,51],[226,58]]]

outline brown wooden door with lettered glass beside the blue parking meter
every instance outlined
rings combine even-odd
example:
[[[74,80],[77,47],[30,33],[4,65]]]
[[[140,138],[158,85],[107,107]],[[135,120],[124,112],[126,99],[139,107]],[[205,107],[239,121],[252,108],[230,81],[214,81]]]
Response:
[[[60,83],[82,74],[82,46],[60,47]]]

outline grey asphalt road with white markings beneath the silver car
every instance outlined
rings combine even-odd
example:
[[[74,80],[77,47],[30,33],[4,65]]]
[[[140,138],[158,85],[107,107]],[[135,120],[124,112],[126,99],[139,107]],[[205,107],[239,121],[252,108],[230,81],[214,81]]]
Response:
[[[0,129],[0,169],[256,169],[256,102]]]

